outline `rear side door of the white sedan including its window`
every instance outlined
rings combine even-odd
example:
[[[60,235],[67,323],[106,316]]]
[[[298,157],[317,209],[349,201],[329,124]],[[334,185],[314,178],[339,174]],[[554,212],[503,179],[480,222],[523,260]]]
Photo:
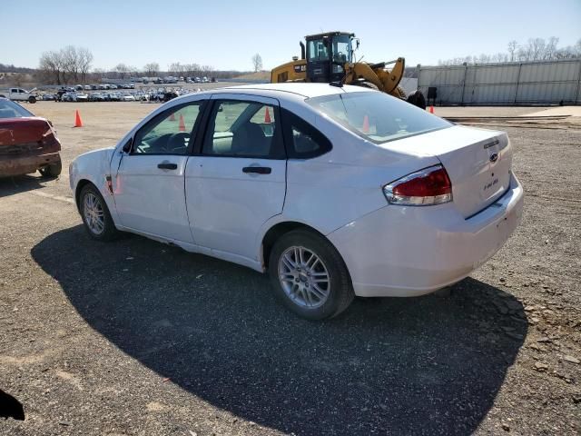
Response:
[[[257,234],[262,223],[282,212],[286,189],[278,101],[212,95],[200,148],[185,173],[195,242],[257,260]]]

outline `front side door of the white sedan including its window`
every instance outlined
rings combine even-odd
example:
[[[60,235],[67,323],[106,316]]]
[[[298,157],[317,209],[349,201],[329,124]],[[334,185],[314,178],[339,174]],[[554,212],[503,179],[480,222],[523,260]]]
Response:
[[[123,153],[113,180],[115,206],[124,227],[193,242],[184,174],[200,114],[202,101],[180,104],[154,116],[134,134],[131,152]]]

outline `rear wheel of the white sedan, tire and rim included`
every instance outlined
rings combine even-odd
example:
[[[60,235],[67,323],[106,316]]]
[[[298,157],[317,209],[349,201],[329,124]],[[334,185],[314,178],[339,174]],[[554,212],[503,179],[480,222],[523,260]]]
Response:
[[[301,318],[331,318],[353,301],[347,266],[319,233],[300,229],[283,234],[272,247],[269,274],[277,298]]]

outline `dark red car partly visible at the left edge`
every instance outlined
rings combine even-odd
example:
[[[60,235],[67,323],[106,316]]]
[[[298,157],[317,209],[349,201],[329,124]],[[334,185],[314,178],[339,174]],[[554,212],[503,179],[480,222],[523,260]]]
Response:
[[[40,171],[61,173],[61,143],[53,126],[24,107],[0,98],[0,177]]]

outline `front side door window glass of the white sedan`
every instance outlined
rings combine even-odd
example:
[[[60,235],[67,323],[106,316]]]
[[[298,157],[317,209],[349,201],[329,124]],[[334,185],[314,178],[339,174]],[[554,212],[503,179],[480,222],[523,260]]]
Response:
[[[186,154],[202,102],[166,111],[135,135],[133,154]]]

